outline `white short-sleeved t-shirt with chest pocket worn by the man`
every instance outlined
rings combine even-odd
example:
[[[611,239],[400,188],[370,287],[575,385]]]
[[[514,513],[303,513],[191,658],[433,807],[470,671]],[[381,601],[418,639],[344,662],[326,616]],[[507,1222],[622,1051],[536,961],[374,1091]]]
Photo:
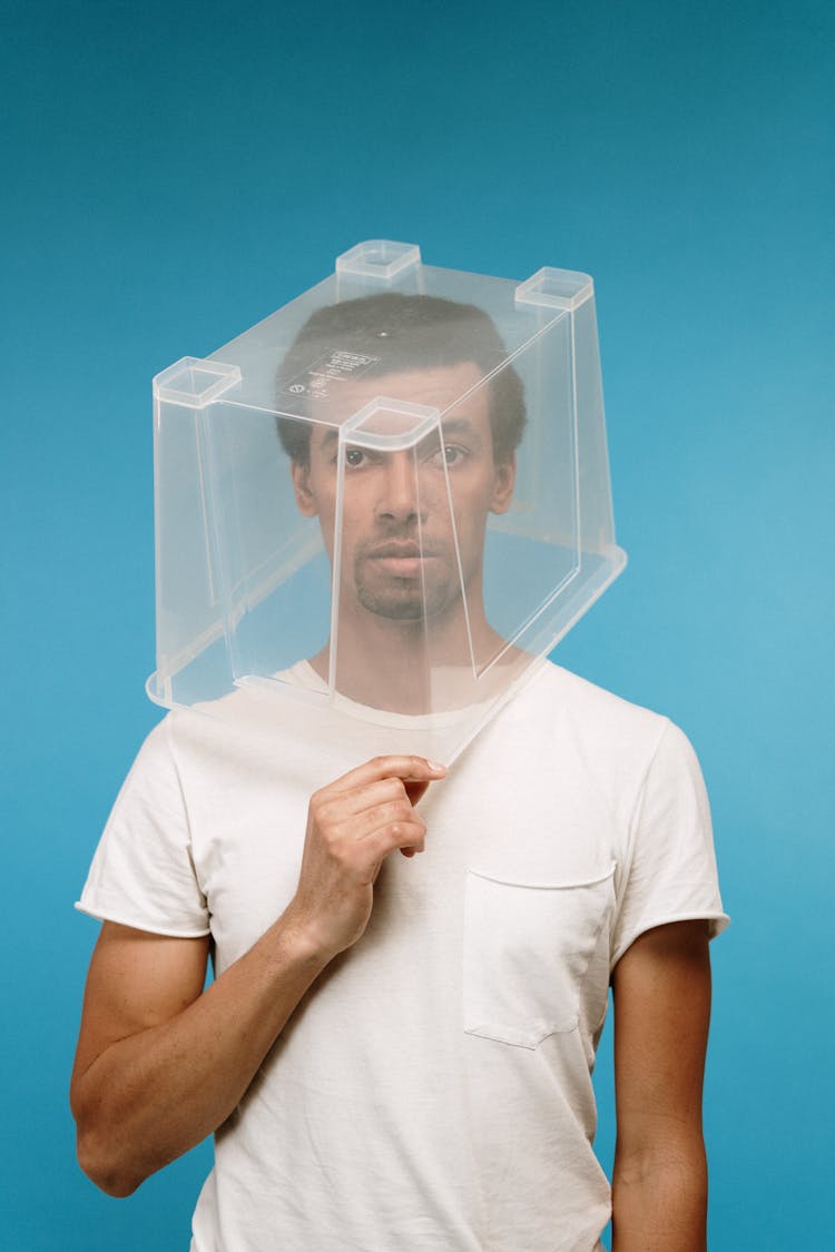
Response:
[[[282,725],[265,704],[240,726],[170,714],[79,906],[210,930],[222,974],[294,894],[310,794],[408,750],[414,719],[388,720],[302,701]],[[591,1069],[610,972],[651,926],[727,924],[692,749],[545,664],[419,808],[424,855],[386,861],[367,933],[215,1136],[193,1252],[597,1246],[610,1187]]]

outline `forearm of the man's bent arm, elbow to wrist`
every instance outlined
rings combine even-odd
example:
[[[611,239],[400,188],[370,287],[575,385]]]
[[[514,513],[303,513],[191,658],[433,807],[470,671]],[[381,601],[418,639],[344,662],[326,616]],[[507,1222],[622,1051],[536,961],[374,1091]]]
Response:
[[[325,964],[285,914],[194,1003],[106,1048],[73,1093],[93,1181],[128,1196],[215,1131]]]

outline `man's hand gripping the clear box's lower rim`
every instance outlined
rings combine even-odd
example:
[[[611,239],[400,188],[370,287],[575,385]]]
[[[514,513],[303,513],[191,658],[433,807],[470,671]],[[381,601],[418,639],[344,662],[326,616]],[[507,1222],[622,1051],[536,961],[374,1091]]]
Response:
[[[378,756],[315,791],[302,871],[285,913],[330,959],[366,930],[384,859],[423,851],[426,824],[414,804],[446,767],[422,756]]]

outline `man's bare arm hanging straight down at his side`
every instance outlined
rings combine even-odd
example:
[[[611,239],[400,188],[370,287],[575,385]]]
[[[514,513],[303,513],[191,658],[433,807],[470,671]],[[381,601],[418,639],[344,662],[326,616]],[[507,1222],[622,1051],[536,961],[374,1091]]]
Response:
[[[640,935],[615,967],[612,1252],[704,1252],[705,921]]]

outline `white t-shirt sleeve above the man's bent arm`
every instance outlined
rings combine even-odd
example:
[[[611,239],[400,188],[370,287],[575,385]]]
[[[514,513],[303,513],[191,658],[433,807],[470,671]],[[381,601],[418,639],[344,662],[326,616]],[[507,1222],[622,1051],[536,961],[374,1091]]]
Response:
[[[75,906],[154,934],[209,933],[168,717],[150,732],[125,779]]]

